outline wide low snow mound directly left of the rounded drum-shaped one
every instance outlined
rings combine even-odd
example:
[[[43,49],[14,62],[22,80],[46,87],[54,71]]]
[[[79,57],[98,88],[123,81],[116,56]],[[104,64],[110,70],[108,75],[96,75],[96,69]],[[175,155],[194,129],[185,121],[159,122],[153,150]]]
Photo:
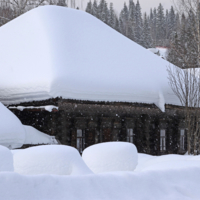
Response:
[[[92,172],[79,152],[70,146],[31,147],[13,154],[14,169],[19,174],[85,175]]]

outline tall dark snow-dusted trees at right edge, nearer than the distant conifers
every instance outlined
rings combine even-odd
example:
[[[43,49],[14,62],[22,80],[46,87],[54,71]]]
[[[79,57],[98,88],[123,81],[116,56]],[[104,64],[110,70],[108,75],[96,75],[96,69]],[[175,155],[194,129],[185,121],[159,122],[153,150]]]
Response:
[[[182,14],[180,29],[174,32],[168,61],[181,68],[200,67],[200,20],[196,13]]]

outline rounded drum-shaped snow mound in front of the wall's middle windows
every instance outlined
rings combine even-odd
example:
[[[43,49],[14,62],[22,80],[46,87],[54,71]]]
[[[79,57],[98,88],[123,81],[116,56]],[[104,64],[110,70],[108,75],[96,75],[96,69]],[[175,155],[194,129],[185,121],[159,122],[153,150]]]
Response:
[[[133,171],[137,166],[137,149],[127,142],[96,144],[83,151],[82,158],[94,173]]]

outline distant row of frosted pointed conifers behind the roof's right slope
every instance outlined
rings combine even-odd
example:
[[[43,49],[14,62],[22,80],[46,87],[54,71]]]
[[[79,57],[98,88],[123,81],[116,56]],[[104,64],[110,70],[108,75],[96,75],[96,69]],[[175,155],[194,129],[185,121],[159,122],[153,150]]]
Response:
[[[108,6],[105,0],[100,0],[99,4],[94,0],[88,2],[86,12],[145,48],[168,47],[171,35],[180,28],[179,14],[175,13],[173,6],[169,11],[164,10],[162,4],[151,9],[150,14],[143,15],[140,2],[129,0],[118,16],[113,3]]]

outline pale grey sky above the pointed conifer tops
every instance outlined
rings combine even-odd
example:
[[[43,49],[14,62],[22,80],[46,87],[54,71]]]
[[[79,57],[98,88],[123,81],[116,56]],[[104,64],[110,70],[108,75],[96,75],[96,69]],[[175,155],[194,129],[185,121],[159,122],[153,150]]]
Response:
[[[78,0],[82,1],[84,6],[87,4],[89,0]],[[77,1],[77,2],[78,2]],[[99,2],[100,0],[98,0]],[[123,8],[124,2],[129,2],[129,0],[106,0],[108,3],[113,2],[114,8],[116,9],[117,12],[120,12],[121,9]],[[135,3],[137,0],[133,0]],[[159,3],[162,3],[164,6],[164,9],[169,9],[171,5],[173,5],[172,0],[139,0],[140,5],[142,7],[142,13],[150,11],[150,8],[158,7]],[[93,0],[92,0],[93,2]]]

